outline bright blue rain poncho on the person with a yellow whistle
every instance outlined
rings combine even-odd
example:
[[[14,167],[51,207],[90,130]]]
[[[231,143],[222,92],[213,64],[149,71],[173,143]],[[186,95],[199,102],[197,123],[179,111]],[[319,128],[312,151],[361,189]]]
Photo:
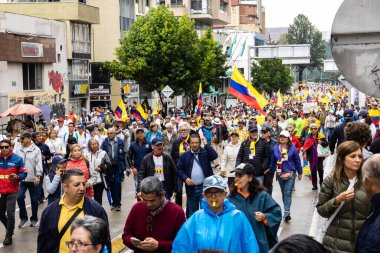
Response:
[[[259,253],[255,234],[244,213],[230,201],[215,214],[205,199],[202,208],[195,212],[179,230],[172,253],[193,253],[203,249],[223,252]]]

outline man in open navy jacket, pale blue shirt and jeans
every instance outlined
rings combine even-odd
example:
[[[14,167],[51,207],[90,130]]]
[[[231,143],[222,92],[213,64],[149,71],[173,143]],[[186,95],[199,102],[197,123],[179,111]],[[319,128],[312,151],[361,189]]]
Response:
[[[213,175],[211,162],[218,158],[218,154],[204,139],[204,148],[201,148],[199,135],[190,136],[190,150],[182,154],[177,163],[178,176],[185,182],[188,216],[195,213],[202,199],[203,181]]]

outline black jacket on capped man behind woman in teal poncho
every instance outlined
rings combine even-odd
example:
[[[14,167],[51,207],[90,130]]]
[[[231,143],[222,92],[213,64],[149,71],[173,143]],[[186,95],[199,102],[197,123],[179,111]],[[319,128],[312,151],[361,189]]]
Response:
[[[236,166],[241,163],[249,163],[255,168],[254,176],[263,176],[264,170],[269,168],[270,145],[265,139],[260,138],[255,145],[255,156],[253,159],[249,159],[249,154],[251,154],[250,147],[251,141],[249,138],[242,142],[236,158]]]

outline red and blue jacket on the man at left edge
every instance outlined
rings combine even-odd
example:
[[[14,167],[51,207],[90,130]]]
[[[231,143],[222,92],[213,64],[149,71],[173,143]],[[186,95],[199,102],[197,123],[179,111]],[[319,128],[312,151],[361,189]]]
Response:
[[[19,176],[18,180],[8,179],[10,174]],[[9,194],[18,192],[20,189],[20,180],[26,178],[26,169],[22,158],[11,151],[10,156],[5,158],[0,153],[0,194]]]

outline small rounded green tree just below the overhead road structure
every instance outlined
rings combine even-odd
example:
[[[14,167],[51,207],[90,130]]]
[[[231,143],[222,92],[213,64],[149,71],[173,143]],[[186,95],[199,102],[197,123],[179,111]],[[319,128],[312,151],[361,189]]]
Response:
[[[294,82],[291,69],[283,65],[280,59],[262,59],[254,62],[251,67],[252,85],[260,92],[269,94],[279,89],[287,91]]]

